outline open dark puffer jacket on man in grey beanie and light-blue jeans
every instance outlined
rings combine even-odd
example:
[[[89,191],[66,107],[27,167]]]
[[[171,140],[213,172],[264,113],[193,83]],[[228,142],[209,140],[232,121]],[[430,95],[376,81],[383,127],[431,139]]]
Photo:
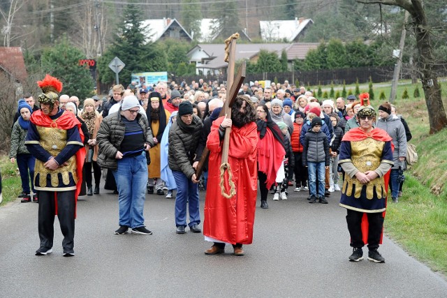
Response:
[[[99,126],[98,134],[96,135],[96,142],[99,147],[98,159],[96,162],[98,165],[105,169],[116,170],[118,167],[117,151],[121,149],[121,143],[124,139],[124,132],[126,131],[126,126],[121,120],[121,114],[115,112],[105,117]],[[147,122],[146,117],[138,113],[137,115],[138,124],[142,128],[146,144],[151,147],[154,146],[154,140],[152,137],[152,130]]]

